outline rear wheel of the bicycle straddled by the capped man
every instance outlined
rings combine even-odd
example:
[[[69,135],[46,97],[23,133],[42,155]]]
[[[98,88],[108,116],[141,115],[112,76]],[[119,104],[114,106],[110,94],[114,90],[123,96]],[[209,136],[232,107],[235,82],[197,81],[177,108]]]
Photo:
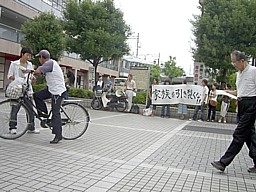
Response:
[[[78,103],[64,103],[61,107],[62,136],[72,140],[81,137],[89,125],[88,111]]]

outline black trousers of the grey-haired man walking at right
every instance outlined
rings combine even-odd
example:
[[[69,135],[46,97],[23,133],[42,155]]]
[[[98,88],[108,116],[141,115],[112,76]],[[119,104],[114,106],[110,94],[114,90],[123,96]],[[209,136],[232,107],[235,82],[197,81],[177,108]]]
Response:
[[[239,123],[233,133],[233,140],[220,162],[228,166],[235,156],[240,152],[244,143],[249,149],[249,156],[256,165],[256,97],[242,98],[238,101]]]

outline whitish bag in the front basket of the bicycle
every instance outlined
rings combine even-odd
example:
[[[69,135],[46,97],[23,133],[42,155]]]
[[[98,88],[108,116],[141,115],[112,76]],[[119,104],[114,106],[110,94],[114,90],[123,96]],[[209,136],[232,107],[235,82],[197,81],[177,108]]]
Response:
[[[23,85],[24,85],[23,78],[15,79],[8,85],[8,87],[5,91],[5,96],[9,97],[10,99],[18,99],[18,98],[22,97]]]

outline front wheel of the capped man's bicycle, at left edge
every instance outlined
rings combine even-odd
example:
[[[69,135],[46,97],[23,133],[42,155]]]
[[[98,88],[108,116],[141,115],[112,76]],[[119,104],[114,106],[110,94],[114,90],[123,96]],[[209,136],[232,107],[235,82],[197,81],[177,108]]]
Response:
[[[17,139],[21,137],[28,129],[28,122],[30,122],[28,109],[22,102],[10,99],[0,102],[1,138]],[[16,128],[16,134],[10,132],[10,126]]]

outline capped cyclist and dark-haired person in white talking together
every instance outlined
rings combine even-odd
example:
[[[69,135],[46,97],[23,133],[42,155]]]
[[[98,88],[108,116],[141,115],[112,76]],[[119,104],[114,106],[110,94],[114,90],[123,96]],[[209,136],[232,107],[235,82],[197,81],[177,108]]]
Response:
[[[35,82],[35,76],[31,76],[29,80],[28,98],[25,98],[25,102],[28,106],[30,116],[32,118],[31,125],[28,128],[28,133],[40,133],[35,129],[35,118],[33,114],[32,98],[34,98],[38,115],[41,118],[48,118],[48,110],[45,100],[50,99],[52,107],[52,133],[55,135],[54,139],[50,141],[51,144],[57,144],[62,140],[62,125],[60,116],[60,106],[63,100],[63,96],[66,93],[65,81],[63,72],[57,63],[57,61],[50,58],[50,53],[47,50],[41,50],[36,56],[39,59],[41,66],[36,70],[33,69],[33,65],[30,62],[32,55],[32,49],[30,47],[23,47],[21,49],[20,59],[11,63],[8,71],[8,79],[15,81],[18,78],[28,77],[29,72],[33,70],[34,75],[45,75],[47,87],[33,93],[31,82]],[[11,111],[11,118],[9,121],[10,134],[16,134],[17,130],[17,113],[20,109],[19,105],[13,106]]]

